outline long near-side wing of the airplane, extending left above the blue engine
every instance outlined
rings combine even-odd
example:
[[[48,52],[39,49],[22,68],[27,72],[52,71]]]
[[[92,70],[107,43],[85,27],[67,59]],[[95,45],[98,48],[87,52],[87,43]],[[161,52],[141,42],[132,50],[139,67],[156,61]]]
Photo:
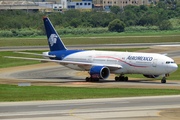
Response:
[[[75,61],[64,61],[64,60],[51,60],[51,59],[39,59],[39,58],[26,58],[26,57],[13,57],[13,56],[4,56],[6,58],[16,58],[16,59],[25,59],[25,60],[37,60],[40,62],[56,62],[62,64],[75,64],[75,65],[86,65],[86,66],[106,66],[110,69],[122,69],[121,65],[113,64],[97,64],[97,63],[86,63],[86,62],[75,62]]]

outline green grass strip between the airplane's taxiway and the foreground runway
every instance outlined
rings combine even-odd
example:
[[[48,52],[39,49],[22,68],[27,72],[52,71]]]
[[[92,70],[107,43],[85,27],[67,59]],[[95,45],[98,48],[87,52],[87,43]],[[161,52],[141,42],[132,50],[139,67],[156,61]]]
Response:
[[[163,92],[162,92],[163,91]],[[173,89],[83,88],[0,84],[0,101],[65,100],[134,96],[179,95]]]

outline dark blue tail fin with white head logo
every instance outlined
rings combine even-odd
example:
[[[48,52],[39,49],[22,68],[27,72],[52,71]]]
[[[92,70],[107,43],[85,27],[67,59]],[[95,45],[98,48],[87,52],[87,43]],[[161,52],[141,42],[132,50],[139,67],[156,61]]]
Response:
[[[51,51],[66,50],[61,38],[57,34],[53,25],[47,17],[43,17],[44,26],[48,38],[49,48]]]

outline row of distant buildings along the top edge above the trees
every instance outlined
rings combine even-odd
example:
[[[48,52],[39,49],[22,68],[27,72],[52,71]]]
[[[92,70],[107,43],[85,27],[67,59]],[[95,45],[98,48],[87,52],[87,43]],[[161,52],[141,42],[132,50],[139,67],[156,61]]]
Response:
[[[4,0],[0,1],[0,9],[22,9],[41,12],[59,12],[69,9],[91,11],[92,9],[110,11],[111,6],[123,9],[126,5],[150,5],[159,0]]]

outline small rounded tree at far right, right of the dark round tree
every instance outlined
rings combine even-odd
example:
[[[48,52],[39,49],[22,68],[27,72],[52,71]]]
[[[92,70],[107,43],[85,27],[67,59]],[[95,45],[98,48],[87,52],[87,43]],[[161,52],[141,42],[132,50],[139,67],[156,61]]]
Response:
[[[159,24],[159,29],[160,30],[170,30],[172,29],[173,26],[171,24],[171,22],[169,20],[163,20],[160,24]]]

